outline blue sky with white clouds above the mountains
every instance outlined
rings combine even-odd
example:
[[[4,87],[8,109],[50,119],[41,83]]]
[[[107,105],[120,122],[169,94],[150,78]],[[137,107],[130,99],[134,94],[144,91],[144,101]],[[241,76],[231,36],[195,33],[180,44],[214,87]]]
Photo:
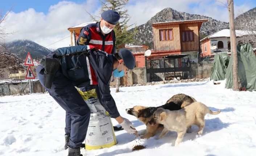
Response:
[[[131,16],[128,24],[144,24],[164,8],[228,22],[227,8],[221,2],[226,0],[129,0],[125,9]],[[69,46],[67,28],[92,21],[86,11],[99,16],[101,7],[99,0],[0,0],[0,4],[3,14],[13,5],[12,12],[0,25],[8,33],[15,32],[7,41],[29,39],[48,46],[63,39],[49,46],[54,49]],[[235,17],[254,7],[256,0],[234,0]]]

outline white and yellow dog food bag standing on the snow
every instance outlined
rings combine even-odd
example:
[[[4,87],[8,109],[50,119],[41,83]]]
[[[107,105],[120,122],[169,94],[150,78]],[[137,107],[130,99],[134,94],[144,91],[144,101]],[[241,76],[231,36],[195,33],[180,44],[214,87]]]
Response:
[[[90,122],[85,138],[85,149],[109,148],[115,145],[116,136],[108,112],[100,104],[95,89],[78,91],[91,110]]]

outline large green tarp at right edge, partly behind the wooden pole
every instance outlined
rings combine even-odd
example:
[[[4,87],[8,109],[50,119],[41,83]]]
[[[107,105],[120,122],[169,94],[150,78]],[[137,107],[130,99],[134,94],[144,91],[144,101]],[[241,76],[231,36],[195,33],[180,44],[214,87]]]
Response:
[[[236,46],[238,55],[238,84],[246,90],[256,91],[256,56],[250,43]],[[215,58],[214,58],[215,59]],[[233,60],[232,56],[226,72],[226,88],[233,88]]]

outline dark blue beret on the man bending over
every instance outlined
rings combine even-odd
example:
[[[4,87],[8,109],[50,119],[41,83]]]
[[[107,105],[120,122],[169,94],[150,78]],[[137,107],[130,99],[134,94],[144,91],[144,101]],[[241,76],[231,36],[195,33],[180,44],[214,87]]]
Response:
[[[124,65],[128,69],[132,70],[135,66],[135,59],[134,56],[132,55],[132,52],[128,49],[120,49],[118,54],[124,60]]]

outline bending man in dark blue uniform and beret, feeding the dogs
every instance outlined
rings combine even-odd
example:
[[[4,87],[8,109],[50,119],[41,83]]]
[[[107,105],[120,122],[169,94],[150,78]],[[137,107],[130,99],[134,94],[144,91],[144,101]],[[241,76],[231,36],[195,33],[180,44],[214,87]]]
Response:
[[[36,72],[40,83],[54,100],[66,111],[65,136],[68,156],[82,156],[80,146],[85,139],[90,119],[90,109],[77,89],[94,84],[100,104],[128,133],[135,133],[132,123],[120,116],[110,94],[111,75],[124,76],[135,66],[131,51],[121,49],[107,54],[93,46],[63,47],[41,59]],[[97,82],[93,82],[92,72]]]

